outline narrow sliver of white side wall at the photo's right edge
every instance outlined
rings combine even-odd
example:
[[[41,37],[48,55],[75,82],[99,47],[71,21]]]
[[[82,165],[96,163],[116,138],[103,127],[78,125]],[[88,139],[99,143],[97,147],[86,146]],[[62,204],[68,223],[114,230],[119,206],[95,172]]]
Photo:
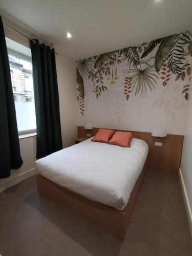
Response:
[[[186,199],[186,208],[191,225],[192,234],[192,97],[189,98],[188,109],[186,113],[186,130],[184,133],[183,152],[181,159],[181,175],[184,186],[184,199]]]

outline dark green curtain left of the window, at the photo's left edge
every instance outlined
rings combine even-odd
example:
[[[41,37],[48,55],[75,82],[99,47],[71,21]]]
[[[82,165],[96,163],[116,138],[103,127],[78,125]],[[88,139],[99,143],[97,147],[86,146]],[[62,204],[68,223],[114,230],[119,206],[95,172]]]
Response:
[[[22,166],[9,58],[0,16],[0,179]]]

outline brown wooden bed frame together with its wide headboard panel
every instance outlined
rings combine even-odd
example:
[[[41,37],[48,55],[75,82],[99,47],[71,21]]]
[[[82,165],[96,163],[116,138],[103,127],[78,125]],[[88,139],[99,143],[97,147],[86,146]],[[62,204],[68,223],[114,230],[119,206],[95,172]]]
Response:
[[[90,130],[89,133],[94,136],[98,132],[98,129],[99,128],[94,128],[93,130]],[[77,126],[78,138],[86,137],[87,132],[88,131],[84,130],[83,126]],[[84,217],[95,223],[97,226],[111,232],[119,239],[124,240],[137,196],[142,186],[146,167],[178,173],[183,145],[182,135],[168,134],[167,137],[159,139],[152,137],[151,133],[132,133],[135,138],[147,142],[149,153],[142,172],[133,188],[129,202],[123,211],[84,198],[37,174],[38,191],[45,196],[52,198],[58,204],[62,204],[74,211],[79,216]],[[163,142],[163,147],[155,146],[155,141]]]

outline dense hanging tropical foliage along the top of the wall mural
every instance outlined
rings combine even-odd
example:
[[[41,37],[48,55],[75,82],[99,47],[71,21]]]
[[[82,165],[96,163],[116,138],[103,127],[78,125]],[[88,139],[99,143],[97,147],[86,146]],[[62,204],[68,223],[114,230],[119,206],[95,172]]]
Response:
[[[122,77],[122,69],[126,75]],[[92,87],[95,99],[115,84],[122,88],[124,100],[153,93],[157,87],[180,82],[180,94],[188,100],[191,88],[192,35],[189,31],[152,40],[77,61],[77,99],[80,113],[85,111],[85,86]],[[122,79],[123,78],[123,79]]]

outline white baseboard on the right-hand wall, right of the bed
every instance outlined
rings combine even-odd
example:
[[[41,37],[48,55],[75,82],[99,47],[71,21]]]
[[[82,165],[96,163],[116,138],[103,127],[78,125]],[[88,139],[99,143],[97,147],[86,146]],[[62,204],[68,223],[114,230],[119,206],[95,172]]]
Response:
[[[184,198],[184,202],[185,202],[185,208],[186,208],[186,212],[187,212],[187,218],[188,218],[190,233],[191,233],[191,237],[192,237],[192,211],[191,211],[192,209],[190,208],[187,191],[186,191],[185,183],[184,183],[182,172],[181,172],[180,168],[179,168],[179,178],[180,178],[180,182],[181,182],[181,188],[182,188],[182,192],[183,192],[183,198]]]

